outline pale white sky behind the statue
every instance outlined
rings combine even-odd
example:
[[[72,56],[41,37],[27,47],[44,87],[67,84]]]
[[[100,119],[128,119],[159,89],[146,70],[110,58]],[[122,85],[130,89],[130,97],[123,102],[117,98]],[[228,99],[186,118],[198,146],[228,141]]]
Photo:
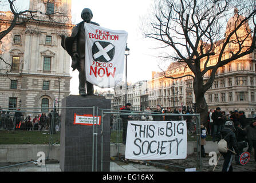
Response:
[[[29,0],[17,0],[17,3],[19,9],[27,9],[29,6]],[[153,0],[72,0],[72,22],[81,22],[81,11],[88,7],[93,12],[93,22],[108,29],[127,31],[130,49],[127,81],[148,80],[151,79],[151,71],[160,71],[157,66],[159,50],[152,49],[156,47],[155,42],[149,38],[145,39],[140,30],[141,22],[147,21],[143,17],[150,13],[152,5]],[[73,77],[70,81],[70,92],[78,94],[78,71],[72,71],[70,67],[70,75]]]

